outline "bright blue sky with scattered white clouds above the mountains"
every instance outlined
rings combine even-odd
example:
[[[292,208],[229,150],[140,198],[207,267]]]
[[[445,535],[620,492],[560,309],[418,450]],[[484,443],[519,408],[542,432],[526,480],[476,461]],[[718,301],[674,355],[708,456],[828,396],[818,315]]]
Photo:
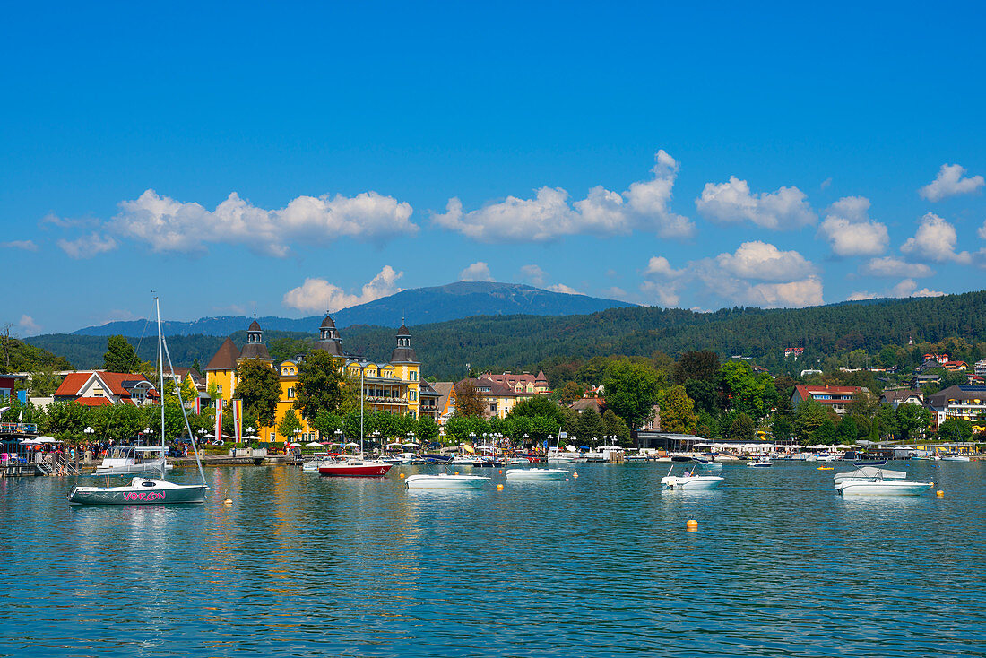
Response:
[[[0,321],[983,288],[986,11],[799,4],[8,8]]]

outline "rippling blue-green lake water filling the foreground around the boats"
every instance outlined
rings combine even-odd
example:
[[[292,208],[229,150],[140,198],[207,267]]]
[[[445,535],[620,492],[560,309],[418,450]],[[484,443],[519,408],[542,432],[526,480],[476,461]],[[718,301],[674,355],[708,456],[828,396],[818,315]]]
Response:
[[[693,492],[644,464],[475,492],[218,468],[160,508],[0,479],[0,655],[986,655],[986,463],[891,467],[944,498],[814,467]]]

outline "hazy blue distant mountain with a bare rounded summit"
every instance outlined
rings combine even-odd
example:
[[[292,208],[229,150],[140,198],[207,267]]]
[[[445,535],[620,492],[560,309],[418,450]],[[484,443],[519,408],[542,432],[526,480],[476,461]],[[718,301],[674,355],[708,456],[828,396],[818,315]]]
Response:
[[[471,316],[572,316],[594,313],[604,309],[632,306],[626,302],[600,299],[586,295],[541,290],[517,283],[492,281],[459,281],[444,286],[401,290],[366,304],[342,309],[332,314],[338,328],[353,325],[373,325],[396,329],[402,322],[408,325],[439,323]],[[265,316],[257,321],[264,330],[312,332],[321,325],[324,316],[291,319]],[[191,322],[168,321],[162,323],[165,335],[227,336],[246,329],[252,318],[224,316],[200,318]],[[113,322],[100,327],[87,327],[72,333],[78,335],[144,336],[157,329],[148,320]]]

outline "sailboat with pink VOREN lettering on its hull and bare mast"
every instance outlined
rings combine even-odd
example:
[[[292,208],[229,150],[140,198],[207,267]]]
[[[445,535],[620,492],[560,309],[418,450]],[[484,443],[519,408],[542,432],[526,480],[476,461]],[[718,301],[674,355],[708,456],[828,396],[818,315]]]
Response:
[[[178,386],[175,376],[175,367],[172,365],[172,357],[168,352],[168,345],[165,342],[161,331],[161,302],[154,298],[155,308],[158,313],[158,362],[161,366],[161,455],[165,455],[165,358],[168,358],[168,365],[172,371],[172,378],[175,381],[178,394],[178,406],[181,408],[181,415],[184,417],[185,429],[191,437],[192,451],[195,453],[195,463],[198,465],[198,475],[201,482],[198,484],[178,484],[165,479],[168,467],[164,459],[161,460],[161,477],[134,477],[129,484],[121,486],[76,486],[68,494],[68,501],[71,505],[162,505],[173,503],[202,503],[205,502],[205,491],[209,487],[205,483],[205,474],[202,473],[202,462],[198,459],[198,448],[195,446],[195,434],[191,431],[188,424],[188,414],[185,412],[184,404],[181,401],[181,388]]]

